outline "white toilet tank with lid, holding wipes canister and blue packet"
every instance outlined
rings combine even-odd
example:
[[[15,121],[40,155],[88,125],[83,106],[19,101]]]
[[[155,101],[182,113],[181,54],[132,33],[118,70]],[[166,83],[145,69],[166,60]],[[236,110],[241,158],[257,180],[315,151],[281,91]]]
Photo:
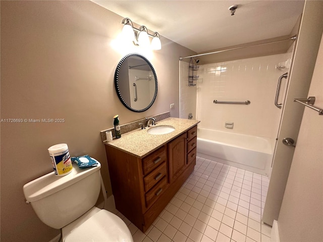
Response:
[[[101,165],[73,170],[65,176],[54,172],[41,176],[23,187],[39,219],[52,228],[62,228],[90,210],[101,188]]]

